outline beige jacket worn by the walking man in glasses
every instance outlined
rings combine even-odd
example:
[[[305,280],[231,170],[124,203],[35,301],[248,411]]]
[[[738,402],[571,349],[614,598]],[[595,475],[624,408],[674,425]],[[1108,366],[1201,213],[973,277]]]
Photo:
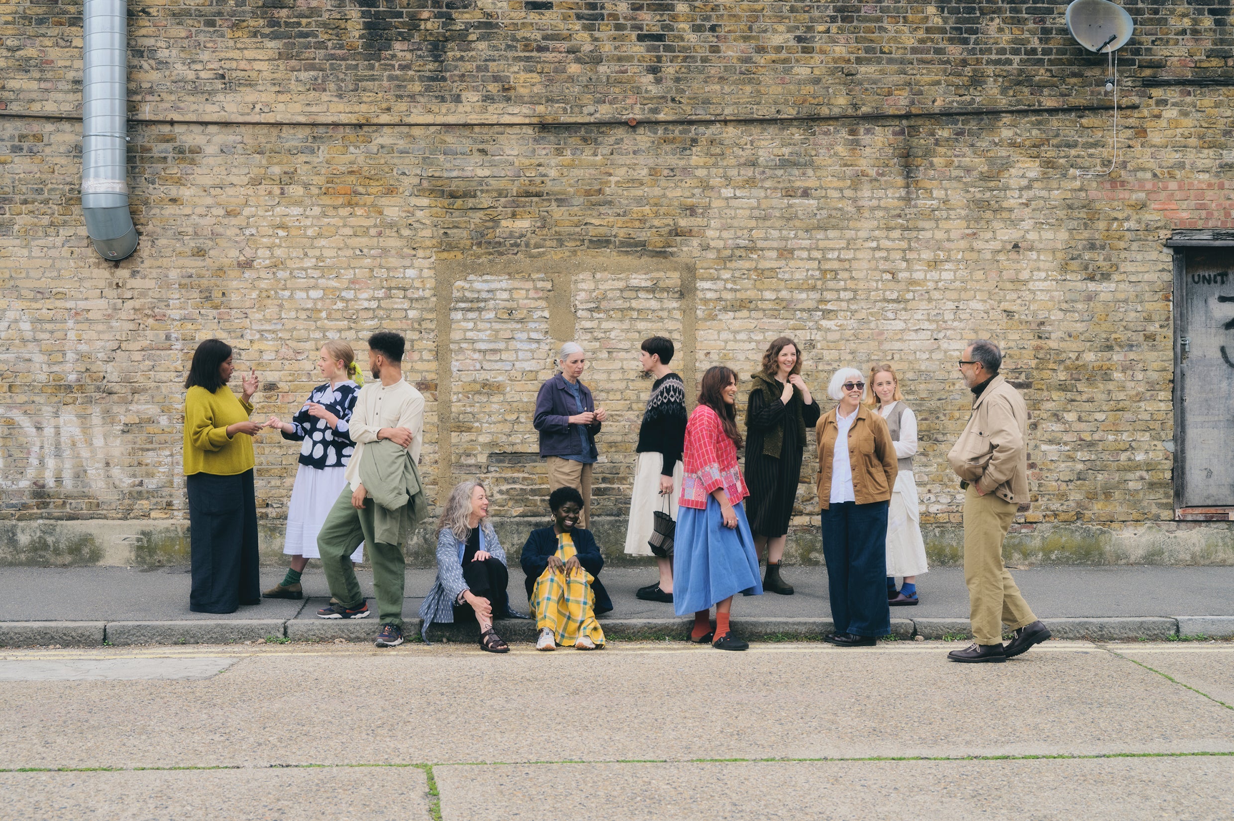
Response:
[[[1028,501],[1028,406],[995,377],[972,402],[972,416],[946,461],[955,474],[1004,501]]]

